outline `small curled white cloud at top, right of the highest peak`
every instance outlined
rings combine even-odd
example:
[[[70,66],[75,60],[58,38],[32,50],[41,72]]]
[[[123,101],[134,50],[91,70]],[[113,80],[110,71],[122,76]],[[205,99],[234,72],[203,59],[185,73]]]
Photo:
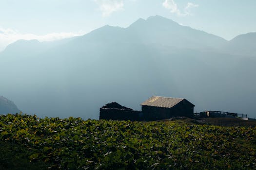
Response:
[[[177,14],[177,16],[192,16],[191,8],[198,7],[197,4],[188,2],[186,7],[184,8],[184,12],[180,12],[180,10],[177,7],[177,3],[175,3],[174,0],[165,0],[162,3],[163,7],[170,10],[171,13]]]

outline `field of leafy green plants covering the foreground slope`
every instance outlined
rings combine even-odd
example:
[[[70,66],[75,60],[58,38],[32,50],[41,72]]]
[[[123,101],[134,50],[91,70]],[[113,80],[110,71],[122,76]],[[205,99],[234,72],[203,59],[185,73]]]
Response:
[[[3,170],[256,169],[256,128],[8,114],[0,151]]]

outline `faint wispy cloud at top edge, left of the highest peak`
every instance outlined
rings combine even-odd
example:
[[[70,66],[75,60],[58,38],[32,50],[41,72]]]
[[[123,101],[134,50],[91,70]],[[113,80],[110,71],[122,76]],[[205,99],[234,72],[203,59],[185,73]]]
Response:
[[[108,17],[113,12],[123,9],[123,0],[94,0],[102,12],[102,17]]]

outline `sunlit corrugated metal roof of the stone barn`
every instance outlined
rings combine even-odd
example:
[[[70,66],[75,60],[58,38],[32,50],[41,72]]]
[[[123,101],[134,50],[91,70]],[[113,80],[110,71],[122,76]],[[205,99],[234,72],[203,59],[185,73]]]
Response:
[[[145,102],[142,102],[140,105],[172,108],[177,103],[179,103],[183,100],[185,100],[185,99],[183,99],[183,98],[167,98],[167,97],[160,97],[160,96],[152,96],[151,98],[149,98]]]

